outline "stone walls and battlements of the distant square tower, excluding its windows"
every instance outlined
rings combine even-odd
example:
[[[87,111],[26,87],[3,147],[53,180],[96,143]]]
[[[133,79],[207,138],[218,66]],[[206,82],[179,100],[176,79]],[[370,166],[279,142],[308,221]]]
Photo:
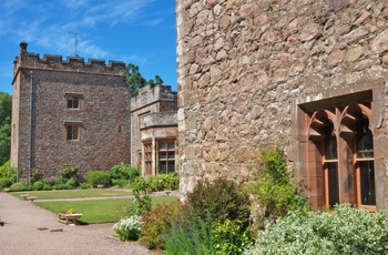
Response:
[[[81,173],[130,163],[130,93],[125,64],[111,61],[27,52],[21,43],[14,62],[11,162],[28,180],[30,155],[30,88],[33,84],[32,162],[44,177],[58,177],[65,165]],[[80,108],[68,109],[67,95],[80,95]],[[68,141],[65,123],[80,124],[80,140]]]

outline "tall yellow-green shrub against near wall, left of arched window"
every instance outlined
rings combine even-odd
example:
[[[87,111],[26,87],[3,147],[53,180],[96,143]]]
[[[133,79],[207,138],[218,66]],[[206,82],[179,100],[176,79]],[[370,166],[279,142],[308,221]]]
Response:
[[[300,188],[293,181],[292,171],[278,147],[262,150],[256,169],[256,176],[247,185],[247,191],[263,210],[259,221],[277,218],[305,206],[306,198],[299,195]]]

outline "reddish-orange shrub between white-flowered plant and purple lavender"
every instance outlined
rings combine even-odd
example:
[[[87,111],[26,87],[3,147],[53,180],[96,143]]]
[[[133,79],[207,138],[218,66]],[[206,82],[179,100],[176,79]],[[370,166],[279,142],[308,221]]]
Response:
[[[163,233],[175,222],[184,222],[186,206],[180,201],[157,204],[142,217],[140,241],[149,248],[163,248]]]

